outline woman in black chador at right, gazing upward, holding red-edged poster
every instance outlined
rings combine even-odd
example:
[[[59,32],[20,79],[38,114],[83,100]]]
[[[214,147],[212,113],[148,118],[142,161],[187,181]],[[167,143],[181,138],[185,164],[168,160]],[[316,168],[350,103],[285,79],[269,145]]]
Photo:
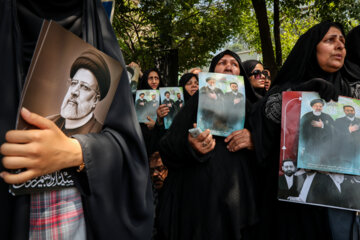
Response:
[[[279,71],[270,92],[254,107],[250,119],[264,189],[261,199],[263,235],[276,239],[331,239],[328,209],[277,201],[281,92],[316,91],[325,101],[350,96],[340,69],[346,55],[342,27],[322,22],[303,34]],[[320,173],[319,173],[320,174]],[[332,236],[330,236],[332,235]]]

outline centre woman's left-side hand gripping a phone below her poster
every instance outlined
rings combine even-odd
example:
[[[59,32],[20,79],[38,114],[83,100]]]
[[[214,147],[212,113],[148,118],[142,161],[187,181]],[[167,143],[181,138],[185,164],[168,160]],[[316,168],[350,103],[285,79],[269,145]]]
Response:
[[[194,128],[196,128],[196,123],[194,123]],[[188,141],[190,143],[190,146],[201,154],[206,154],[211,152],[215,148],[215,139],[210,134],[210,130],[206,129],[202,133],[197,136],[197,138],[194,138],[188,134]]]

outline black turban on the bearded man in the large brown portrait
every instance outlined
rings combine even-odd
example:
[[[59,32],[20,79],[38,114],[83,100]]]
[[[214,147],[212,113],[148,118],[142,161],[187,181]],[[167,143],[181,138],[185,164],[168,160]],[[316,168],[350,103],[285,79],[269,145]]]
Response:
[[[110,71],[104,58],[95,51],[87,50],[74,61],[70,77],[74,77],[80,68],[88,69],[95,75],[100,90],[100,100],[104,99],[110,88]]]

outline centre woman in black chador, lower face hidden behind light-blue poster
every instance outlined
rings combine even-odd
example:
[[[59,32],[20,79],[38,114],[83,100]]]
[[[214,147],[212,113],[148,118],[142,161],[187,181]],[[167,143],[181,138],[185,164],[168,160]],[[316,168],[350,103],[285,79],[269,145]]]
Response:
[[[229,50],[213,58],[209,71],[244,74],[239,56]],[[244,78],[246,97],[256,101]],[[196,93],[160,141],[169,175],[159,203],[159,232],[165,239],[251,239],[257,214],[250,132],[235,131],[225,139],[206,130],[192,138],[188,130],[196,123],[198,101]]]

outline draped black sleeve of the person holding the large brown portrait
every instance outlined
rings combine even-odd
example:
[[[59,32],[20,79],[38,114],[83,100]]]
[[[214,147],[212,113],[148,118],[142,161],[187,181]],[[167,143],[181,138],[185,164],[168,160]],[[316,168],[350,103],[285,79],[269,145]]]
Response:
[[[88,236],[148,239],[153,204],[146,199],[152,194],[151,181],[148,168],[133,159],[131,142],[111,129],[74,137],[82,146],[90,190],[83,198],[87,226],[93,226],[87,228]]]

